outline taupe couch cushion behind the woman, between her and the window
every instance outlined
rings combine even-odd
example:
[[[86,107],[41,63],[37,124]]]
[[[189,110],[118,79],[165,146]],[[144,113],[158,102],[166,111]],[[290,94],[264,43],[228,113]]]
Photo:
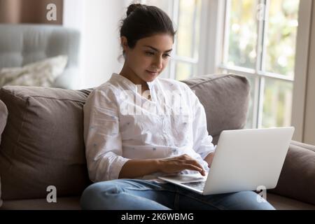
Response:
[[[204,106],[208,132],[217,144],[223,130],[246,125],[250,85],[246,77],[233,74],[199,76],[183,80]]]

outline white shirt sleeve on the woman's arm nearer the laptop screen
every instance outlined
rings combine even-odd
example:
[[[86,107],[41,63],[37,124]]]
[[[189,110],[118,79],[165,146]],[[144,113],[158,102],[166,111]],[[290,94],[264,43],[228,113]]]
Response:
[[[215,151],[213,138],[207,130],[207,117],[204,106],[200,103],[195,93],[192,95],[193,102],[193,149],[200,154],[202,159],[207,157],[209,153]]]

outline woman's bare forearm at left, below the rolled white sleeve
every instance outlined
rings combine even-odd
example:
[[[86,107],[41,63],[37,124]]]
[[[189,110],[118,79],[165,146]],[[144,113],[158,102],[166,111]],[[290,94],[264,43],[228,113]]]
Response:
[[[119,179],[134,179],[159,172],[159,160],[128,160],[120,170]]]

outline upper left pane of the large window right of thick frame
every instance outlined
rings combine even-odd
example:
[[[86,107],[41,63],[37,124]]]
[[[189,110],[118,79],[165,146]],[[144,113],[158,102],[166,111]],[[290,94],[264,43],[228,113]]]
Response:
[[[257,42],[257,2],[253,0],[231,0],[228,65],[255,69]]]

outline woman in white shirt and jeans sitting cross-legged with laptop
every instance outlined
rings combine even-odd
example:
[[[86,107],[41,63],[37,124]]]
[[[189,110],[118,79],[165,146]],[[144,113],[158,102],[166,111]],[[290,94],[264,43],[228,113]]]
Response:
[[[204,196],[157,179],[179,172],[205,175],[215,147],[204,107],[190,87],[158,77],[174,43],[168,15],[155,6],[132,4],[120,36],[122,71],[93,90],[84,106],[88,172],[98,183],[85,189],[81,207],[274,209],[251,191]],[[176,108],[169,106],[172,100]]]

